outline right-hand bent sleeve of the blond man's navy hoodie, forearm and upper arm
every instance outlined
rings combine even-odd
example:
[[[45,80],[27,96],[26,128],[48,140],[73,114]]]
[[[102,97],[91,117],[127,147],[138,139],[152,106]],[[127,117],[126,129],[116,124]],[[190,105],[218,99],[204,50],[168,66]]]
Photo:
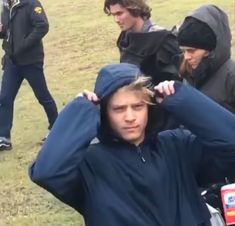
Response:
[[[207,180],[216,178],[209,173],[213,167],[221,177],[234,171],[235,116],[191,86],[176,82],[175,89],[163,106],[193,133],[183,135],[182,140],[195,172],[203,173]]]

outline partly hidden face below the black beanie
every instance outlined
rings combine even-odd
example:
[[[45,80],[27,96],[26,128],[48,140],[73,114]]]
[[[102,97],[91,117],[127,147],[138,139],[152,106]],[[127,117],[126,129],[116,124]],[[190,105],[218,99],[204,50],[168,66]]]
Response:
[[[192,69],[196,69],[202,59],[209,55],[209,51],[204,49],[196,49],[185,46],[180,47],[180,49],[183,51],[184,59],[189,63]]]

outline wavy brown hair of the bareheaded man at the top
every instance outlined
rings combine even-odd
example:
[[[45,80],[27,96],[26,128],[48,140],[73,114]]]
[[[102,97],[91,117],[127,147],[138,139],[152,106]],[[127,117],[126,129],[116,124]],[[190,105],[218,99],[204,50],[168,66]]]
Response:
[[[119,4],[126,8],[134,17],[149,19],[151,17],[151,8],[146,4],[146,0],[105,0],[104,12],[110,15],[110,6]]]

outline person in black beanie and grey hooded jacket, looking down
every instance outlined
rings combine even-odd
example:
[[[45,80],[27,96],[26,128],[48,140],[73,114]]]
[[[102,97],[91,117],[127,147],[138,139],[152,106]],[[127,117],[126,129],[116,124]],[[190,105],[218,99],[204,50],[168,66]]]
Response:
[[[215,5],[203,5],[185,18],[177,38],[183,51],[181,76],[235,113],[235,62],[227,14]]]

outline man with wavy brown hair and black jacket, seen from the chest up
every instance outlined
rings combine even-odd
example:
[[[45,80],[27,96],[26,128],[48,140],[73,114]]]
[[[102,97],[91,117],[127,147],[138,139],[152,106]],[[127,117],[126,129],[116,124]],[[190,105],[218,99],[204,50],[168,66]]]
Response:
[[[154,84],[179,80],[172,60],[180,53],[176,37],[150,20],[151,8],[144,0],[105,0],[104,12],[112,15],[121,29],[117,39],[120,62],[139,66]]]

